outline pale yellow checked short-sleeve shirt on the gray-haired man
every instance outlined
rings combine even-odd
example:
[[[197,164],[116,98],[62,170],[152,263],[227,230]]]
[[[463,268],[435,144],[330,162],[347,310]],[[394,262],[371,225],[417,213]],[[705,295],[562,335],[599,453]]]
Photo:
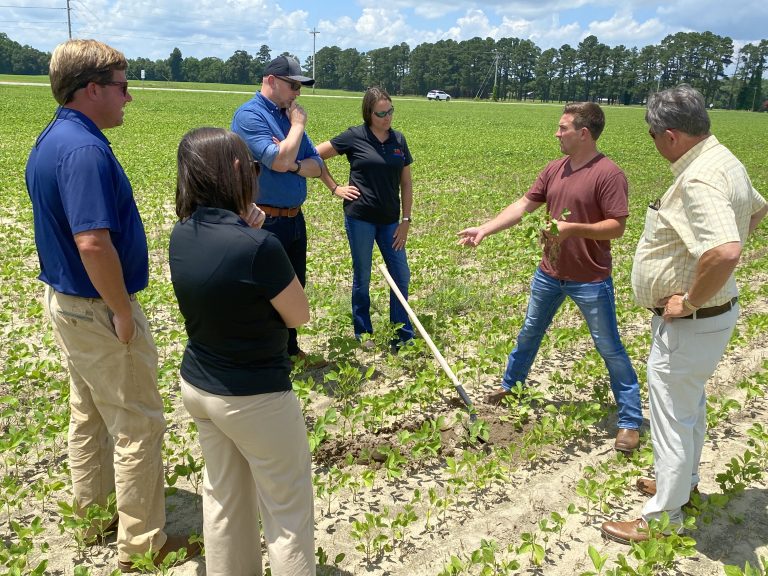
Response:
[[[632,266],[635,299],[646,308],[687,292],[708,250],[744,244],[750,218],[765,205],[742,163],[714,136],[696,144],[671,170],[675,181],[649,206]],[[719,306],[737,294],[731,275],[702,306]]]

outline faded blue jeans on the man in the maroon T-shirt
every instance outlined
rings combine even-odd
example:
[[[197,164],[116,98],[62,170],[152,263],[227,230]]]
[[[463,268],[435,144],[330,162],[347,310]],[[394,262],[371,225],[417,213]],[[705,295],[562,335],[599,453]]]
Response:
[[[611,391],[619,409],[619,428],[639,428],[643,421],[640,386],[619,337],[610,276],[599,282],[572,282],[557,280],[536,269],[525,323],[517,337],[517,346],[509,355],[502,387],[509,390],[517,382],[525,383],[544,333],[566,296],[581,310],[595,347],[608,368]]]

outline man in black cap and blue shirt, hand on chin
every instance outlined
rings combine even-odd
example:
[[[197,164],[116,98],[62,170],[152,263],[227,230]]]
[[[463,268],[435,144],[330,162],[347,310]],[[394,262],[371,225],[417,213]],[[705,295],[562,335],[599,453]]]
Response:
[[[257,201],[266,214],[262,227],[280,239],[302,286],[307,281],[307,227],[301,205],[307,199],[307,178],[320,176],[322,160],[304,131],[307,113],[296,98],[302,86],[314,83],[296,60],[278,56],[264,69],[261,91],[232,118],[232,131],[261,165]],[[288,331],[288,354],[307,367],[325,364],[306,359],[295,328]]]

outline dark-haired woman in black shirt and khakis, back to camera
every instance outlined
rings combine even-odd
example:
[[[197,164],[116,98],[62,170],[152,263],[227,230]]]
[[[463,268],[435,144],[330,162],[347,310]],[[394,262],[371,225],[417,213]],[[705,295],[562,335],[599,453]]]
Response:
[[[206,462],[206,573],[261,574],[261,518],[272,574],[314,575],[311,461],[287,349],[309,304],[280,241],[260,229],[257,175],[227,130],[179,144],[170,267],[189,337],[181,394]]]

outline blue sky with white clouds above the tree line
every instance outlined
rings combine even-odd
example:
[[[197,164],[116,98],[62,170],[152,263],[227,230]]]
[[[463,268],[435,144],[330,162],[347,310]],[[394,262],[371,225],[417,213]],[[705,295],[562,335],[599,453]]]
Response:
[[[738,49],[768,38],[766,0],[70,0],[72,35],[97,38],[129,58],[228,58],[267,44],[302,62],[323,46],[361,52],[406,42],[527,38],[542,49],[594,34],[642,47],[675,32],[730,36]],[[66,40],[64,0],[0,0],[0,31],[50,51]],[[413,6],[416,7],[413,7]],[[311,32],[317,31],[316,35]]]

